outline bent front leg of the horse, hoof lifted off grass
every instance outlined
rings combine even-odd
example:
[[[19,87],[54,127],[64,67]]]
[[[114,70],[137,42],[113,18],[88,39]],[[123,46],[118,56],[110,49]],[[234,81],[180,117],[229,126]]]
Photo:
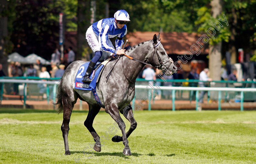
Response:
[[[126,137],[128,138],[130,134],[133,132],[133,130],[137,127],[137,122],[135,121],[133,117],[133,109],[131,105],[126,106],[122,111],[120,111],[124,117],[131,123],[130,129],[128,132],[126,132]],[[121,136],[114,136],[112,137],[113,142],[120,142],[123,141],[123,137]]]

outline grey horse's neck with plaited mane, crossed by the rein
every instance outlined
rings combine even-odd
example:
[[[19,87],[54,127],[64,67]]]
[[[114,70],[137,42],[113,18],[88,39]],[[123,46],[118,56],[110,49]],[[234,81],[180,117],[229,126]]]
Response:
[[[135,48],[133,48],[132,50],[130,49],[129,52],[126,52],[126,55],[129,55],[129,56],[133,57],[134,59],[137,59],[141,62],[146,62],[146,61],[148,61],[148,58],[150,57],[150,53],[153,52],[153,50],[151,50],[150,44],[151,44],[151,42],[147,41],[144,44],[140,44],[139,46],[136,45]],[[130,81],[136,80],[136,78],[140,74],[141,70],[143,69],[144,65],[145,64],[142,64],[140,62],[129,59],[126,56],[123,56],[124,73]]]

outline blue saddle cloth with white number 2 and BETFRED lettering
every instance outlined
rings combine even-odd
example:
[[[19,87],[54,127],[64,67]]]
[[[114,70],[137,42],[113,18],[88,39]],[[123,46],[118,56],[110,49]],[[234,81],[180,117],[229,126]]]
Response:
[[[85,75],[86,69],[89,65],[89,62],[84,63],[80,66],[76,73],[75,78],[75,89],[81,89],[81,90],[89,90],[96,88],[96,83],[98,82],[98,76],[101,74],[101,69],[108,63],[109,60],[105,60],[104,62],[100,63],[97,62],[96,66],[94,67],[93,72],[91,73],[90,79],[92,79],[91,83],[84,83],[82,82],[82,79]],[[96,70],[96,71],[95,71]]]

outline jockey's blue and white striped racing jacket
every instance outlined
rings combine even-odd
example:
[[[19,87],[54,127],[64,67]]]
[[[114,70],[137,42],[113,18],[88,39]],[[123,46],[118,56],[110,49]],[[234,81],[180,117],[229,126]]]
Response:
[[[108,38],[119,37],[123,38],[127,33],[126,25],[123,28],[118,28],[115,22],[115,18],[105,18],[92,24],[92,29],[95,34],[99,36],[101,49],[111,53],[116,53],[116,50],[121,49],[123,45],[123,39],[116,39],[116,50],[108,45]]]

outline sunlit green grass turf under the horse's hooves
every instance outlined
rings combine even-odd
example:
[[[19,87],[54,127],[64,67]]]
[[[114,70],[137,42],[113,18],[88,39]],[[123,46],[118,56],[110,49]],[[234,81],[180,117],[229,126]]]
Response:
[[[110,139],[101,138],[101,152],[94,151],[90,159],[91,154],[83,154],[94,144],[84,126],[87,113],[73,111],[71,155],[65,156],[62,113],[0,109],[0,163],[256,163],[255,111],[138,111],[137,129],[128,138],[132,156],[124,156],[123,143],[112,142],[108,133]],[[124,121],[128,130],[130,123]],[[100,112],[94,129],[106,136],[113,123]]]

